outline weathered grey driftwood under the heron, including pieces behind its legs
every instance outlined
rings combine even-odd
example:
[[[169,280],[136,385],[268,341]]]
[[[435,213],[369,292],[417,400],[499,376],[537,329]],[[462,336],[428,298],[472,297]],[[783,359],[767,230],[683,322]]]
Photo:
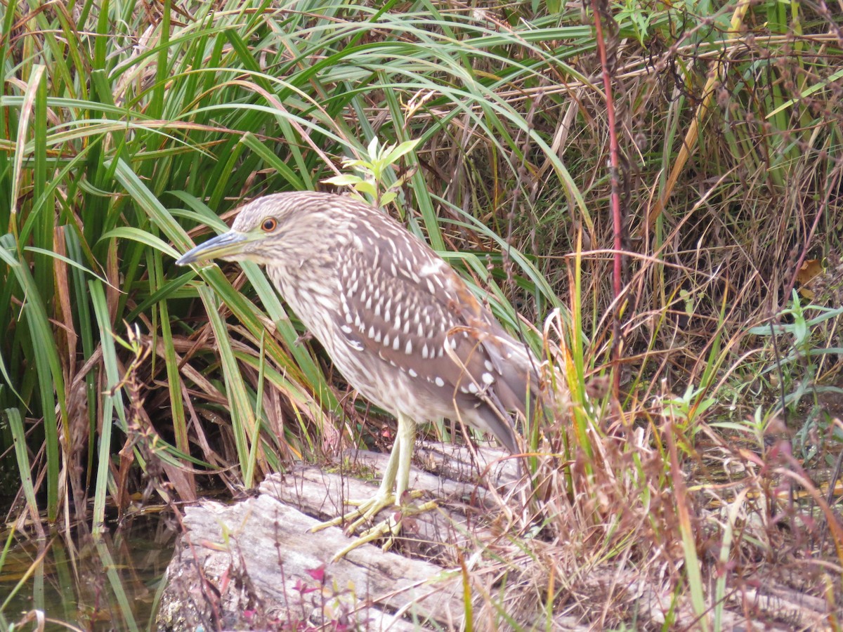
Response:
[[[474,466],[468,453],[456,448],[443,454],[438,447],[427,447],[418,454],[422,460],[437,460],[440,469],[443,458],[447,460],[447,477],[414,468],[411,487],[425,490],[448,509],[440,506],[408,518],[400,546],[435,556],[440,563],[456,560],[458,549],[466,547],[511,549],[496,535],[505,529],[496,529],[486,517],[493,507],[500,511],[494,496],[513,490],[517,463],[498,460],[502,453],[496,451],[482,452],[481,463]],[[384,455],[373,453],[346,457],[358,473],[361,465],[377,470],[385,463]],[[485,472],[491,489],[471,482],[479,472]],[[374,489],[350,475],[303,466],[267,478],[256,497],[234,505],[205,501],[187,507],[158,628],[342,624],[373,630],[459,629],[466,598],[459,566],[411,560],[372,544],[330,562],[351,540],[340,528],[309,533],[319,520],[307,514],[336,516],[342,500],[366,498]]]

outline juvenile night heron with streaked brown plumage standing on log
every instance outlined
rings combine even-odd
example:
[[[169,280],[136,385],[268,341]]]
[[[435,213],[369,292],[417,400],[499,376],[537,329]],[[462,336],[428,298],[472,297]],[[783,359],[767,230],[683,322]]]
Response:
[[[524,415],[535,400],[533,357],[438,254],[384,212],[328,193],[266,195],[177,263],[211,259],[266,265],[346,380],[398,419],[378,492],[319,528],[357,518],[354,531],[400,504],[416,420],[459,419],[518,451],[511,413]],[[359,542],[397,528],[370,529]]]

